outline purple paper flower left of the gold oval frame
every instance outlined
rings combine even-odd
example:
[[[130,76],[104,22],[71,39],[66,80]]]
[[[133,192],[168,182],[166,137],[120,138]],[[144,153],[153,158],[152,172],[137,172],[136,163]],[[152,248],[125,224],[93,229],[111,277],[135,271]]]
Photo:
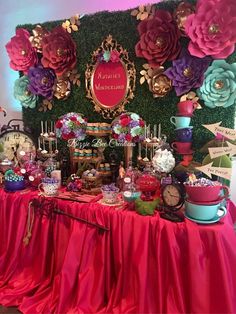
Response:
[[[29,90],[35,95],[41,95],[47,99],[53,97],[53,86],[56,79],[54,71],[42,66],[30,68],[28,72]]]

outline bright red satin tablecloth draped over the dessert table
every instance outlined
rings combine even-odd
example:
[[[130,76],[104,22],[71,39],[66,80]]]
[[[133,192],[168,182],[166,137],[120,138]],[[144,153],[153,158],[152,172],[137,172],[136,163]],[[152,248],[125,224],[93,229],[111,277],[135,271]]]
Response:
[[[126,207],[56,200],[35,214],[37,192],[0,190],[0,304],[23,313],[235,313],[236,209],[218,223],[173,223]]]

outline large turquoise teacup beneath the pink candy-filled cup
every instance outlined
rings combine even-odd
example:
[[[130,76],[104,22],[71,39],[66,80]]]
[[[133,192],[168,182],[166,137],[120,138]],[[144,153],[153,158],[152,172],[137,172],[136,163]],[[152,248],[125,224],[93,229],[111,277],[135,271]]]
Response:
[[[201,205],[185,201],[185,212],[187,216],[196,220],[212,220],[216,217],[224,217],[227,209],[221,203]]]

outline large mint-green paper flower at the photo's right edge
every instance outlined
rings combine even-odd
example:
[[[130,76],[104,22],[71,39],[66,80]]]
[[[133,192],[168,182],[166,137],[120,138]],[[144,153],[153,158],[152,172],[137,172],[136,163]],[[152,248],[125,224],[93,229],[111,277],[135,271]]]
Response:
[[[198,95],[210,108],[236,104],[236,63],[215,60],[205,72]]]

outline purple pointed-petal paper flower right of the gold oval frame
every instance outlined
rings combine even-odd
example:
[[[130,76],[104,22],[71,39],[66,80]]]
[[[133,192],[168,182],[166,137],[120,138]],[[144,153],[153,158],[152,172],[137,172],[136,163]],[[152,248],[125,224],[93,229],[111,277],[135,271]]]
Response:
[[[177,96],[183,95],[202,85],[204,72],[208,68],[211,58],[197,58],[187,51],[182,51],[180,58],[172,62],[172,67],[165,74],[172,80]]]

